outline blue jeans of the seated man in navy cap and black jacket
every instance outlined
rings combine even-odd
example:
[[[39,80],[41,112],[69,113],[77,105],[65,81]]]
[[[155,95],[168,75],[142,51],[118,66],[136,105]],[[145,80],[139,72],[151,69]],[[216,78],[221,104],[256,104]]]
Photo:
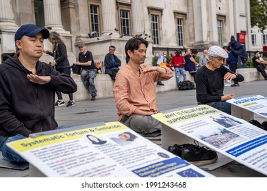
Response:
[[[24,158],[19,156],[15,151],[10,149],[7,143],[10,143],[12,141],[18,141],[23,138],[27,138],[26,136],[22,136],[21,134],[15,135],[15,136],[0,136],[0,151],[2,153],[2,156],[5,160],[8,160],[10,162],[27,162]]]

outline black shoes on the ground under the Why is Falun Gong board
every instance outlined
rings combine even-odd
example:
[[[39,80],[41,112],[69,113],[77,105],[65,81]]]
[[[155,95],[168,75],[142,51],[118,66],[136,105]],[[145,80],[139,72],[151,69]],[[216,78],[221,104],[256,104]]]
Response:
[[[179,156],[183,160],[187,160],[195,166],[203,166],[207,164],[212,164],[218,159],[216,151],[212,151],[207,147],[200,147],[199,145],[183,144],[183,145],[173,145],[168,147],[168,151]]]

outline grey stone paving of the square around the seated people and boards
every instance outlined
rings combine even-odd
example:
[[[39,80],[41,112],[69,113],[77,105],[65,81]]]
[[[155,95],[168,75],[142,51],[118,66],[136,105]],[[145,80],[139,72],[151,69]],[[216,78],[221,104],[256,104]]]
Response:
[[[267,97],[266,87],[266,80],[258,80],[248,83],[240,83],[240,87],[225,87],[225,93],[235,93],[236,96],[259,94]],[[110,91],[112,91],[112,89]],[[67,101],[68,100],[65,100],[65,102]],[[177,90],[157,93],[157,109],[160,111],[194,104],[196,104],[195,90]],[[111,122],[117,120],[114,98],[76,102],[75,106],[72,108],[68,108],[66,105],[61,106],[55,108],[55,117],[59,125],[62,126],[79,126],[100,121]],[[231,162],[214,171],[208,172],[216,177],[266,177],[261,173],[253,171],[236,162]],[[28,170],[14,171],[0,168],[0,177],[28,176]]]

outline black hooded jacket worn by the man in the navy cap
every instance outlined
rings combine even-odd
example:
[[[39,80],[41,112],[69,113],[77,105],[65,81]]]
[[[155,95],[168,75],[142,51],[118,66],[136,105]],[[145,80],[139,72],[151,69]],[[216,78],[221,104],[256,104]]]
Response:
[[[60,74],[51,65],[38,61],[36,74],[51,76],[46,85],[31,83],[29,70],[23,67],[17,55],[0,65],[0,136],[53,130],[55,121],[55,91],[74,93],[77,85],[71,76]]]

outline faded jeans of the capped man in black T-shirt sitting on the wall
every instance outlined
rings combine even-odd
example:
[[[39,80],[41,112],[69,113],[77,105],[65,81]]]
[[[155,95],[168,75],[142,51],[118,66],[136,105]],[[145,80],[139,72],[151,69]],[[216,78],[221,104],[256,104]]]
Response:
[[[94,86],[94,78],[97,76],[97,70],[82,70],[81,81],[84,87],[88,89],[92,96],[97,96],[97,89]]]

